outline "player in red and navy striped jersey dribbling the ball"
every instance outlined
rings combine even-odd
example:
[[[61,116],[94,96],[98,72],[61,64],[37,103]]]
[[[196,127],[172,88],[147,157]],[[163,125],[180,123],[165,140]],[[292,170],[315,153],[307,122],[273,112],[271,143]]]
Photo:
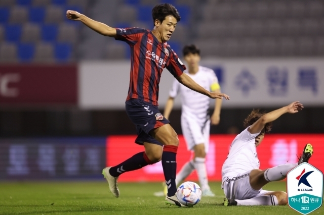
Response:
[[[164,68],[167,68],[181,84],[211,98],[229,99],[229,96],[209,92],[183,73],[186,67],[167,43],[177,22],[180,21],[177,9],[170,4],[156,5],[152,10],[153,30],[112,28],[76,11],[67,11],[66,17],[70,20],[81,21],[104,36],[125,41],[131,47],[131,80],[126,99],[126,111],[136,125],[138,137],[135,143],[144,145],[145,150],[121,164],[103,170],[110,191],[115,197],[119,197],[117,187],[119,175],[162,160],[168,186],[166,202],[184,206],[175,195],[178,136],[170,122],[157,109],[158,83],[161,73]]]

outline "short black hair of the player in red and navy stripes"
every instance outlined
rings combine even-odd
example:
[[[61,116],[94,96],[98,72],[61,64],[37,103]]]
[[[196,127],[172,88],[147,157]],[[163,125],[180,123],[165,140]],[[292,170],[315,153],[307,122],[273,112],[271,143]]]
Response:
[[[179,22],[181,19],[179,12],[173,5],[169,3],[156,5],[152,9],[153,25],[155,25],[156,19],[162,23],[163,20],[165,20],[166,17],[170,15],[176,18],[177,22]]]

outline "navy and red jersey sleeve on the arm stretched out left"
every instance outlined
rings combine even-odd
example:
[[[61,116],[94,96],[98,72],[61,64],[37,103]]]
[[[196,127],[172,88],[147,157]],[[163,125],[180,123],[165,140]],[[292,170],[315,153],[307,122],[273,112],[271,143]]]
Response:
[[[116,28],[116,40],[125,41],[130,45],[135,45],[136,42],[145,33],[143,28]]]

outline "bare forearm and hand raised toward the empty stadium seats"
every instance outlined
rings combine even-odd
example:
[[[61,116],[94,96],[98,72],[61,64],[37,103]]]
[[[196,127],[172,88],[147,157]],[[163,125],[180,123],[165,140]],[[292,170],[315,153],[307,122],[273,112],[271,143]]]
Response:
[[[80,14],[76,11],[66,11],[66,18],[69,20],[75,20],[75,21],[81,21],[86,26],[91,28],[92,30],[104,35],[104,36],[110,36],[115,37],[116,36],[116,29],[109,27],[108,25],[97,22],[95,20],[90,19],[89,17]]]

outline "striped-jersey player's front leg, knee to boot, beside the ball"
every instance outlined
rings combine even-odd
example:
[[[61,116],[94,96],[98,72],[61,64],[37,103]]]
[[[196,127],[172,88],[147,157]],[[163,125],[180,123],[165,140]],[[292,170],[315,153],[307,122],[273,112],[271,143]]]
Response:
[[[178,135],[170,124],[163,125],[150,132],[150,135],[164,145],[162,152],[163,173],[168,187],[166,201],[169,204],[185,206],[181,204],[176,197],[176,173],[177,162],[176,155],[179,145]]]

